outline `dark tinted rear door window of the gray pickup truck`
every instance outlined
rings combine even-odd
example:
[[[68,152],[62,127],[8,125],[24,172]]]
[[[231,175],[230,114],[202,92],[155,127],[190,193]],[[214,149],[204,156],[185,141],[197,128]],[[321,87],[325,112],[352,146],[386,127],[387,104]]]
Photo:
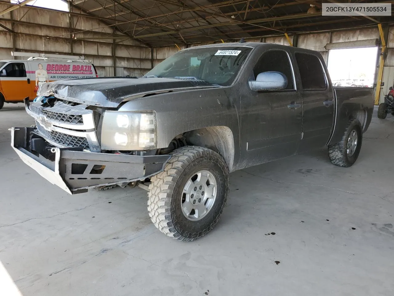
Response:
[[[317,56],[296,52],[296,60],[303,90],[325,90],[327,88],[323,67]]]

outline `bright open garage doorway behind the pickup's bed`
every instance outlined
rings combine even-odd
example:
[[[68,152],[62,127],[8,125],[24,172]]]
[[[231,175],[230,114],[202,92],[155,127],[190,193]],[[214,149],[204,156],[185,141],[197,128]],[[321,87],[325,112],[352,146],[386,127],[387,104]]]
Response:
[[[331,49],[328,72],[334,86],[373,87],[377,47]]]

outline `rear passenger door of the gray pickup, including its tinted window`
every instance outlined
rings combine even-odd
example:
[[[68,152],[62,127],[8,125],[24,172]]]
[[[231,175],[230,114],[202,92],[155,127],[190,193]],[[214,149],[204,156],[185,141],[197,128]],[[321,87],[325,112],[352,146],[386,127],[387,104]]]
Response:
[[[335,100],[321,56],[295,52],[301,78],[303,139],[299,152],[323,147],[333,127]]]

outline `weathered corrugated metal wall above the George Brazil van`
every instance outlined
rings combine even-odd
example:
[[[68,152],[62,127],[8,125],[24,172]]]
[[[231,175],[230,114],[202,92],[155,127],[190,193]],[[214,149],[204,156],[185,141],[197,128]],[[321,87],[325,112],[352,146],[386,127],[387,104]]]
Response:
[[[79,12],[75,11],[74,12]],[[22,23],[9,22],[12,19]],[[60,11],[50,11],[35,7],[21,7],[0,16],[0,23],[12,29],[15,34],[0,27],[0,60],[13,59],[11,51],[45,52],[55,54],[84,55],[92,60],[99,76],[106,75],[106,67],[113,67],[113,39],[101,39],[112,34],[108,27],[97,19],[71,15]],[[71,40],[71,27],[75,31],[93,30],[76,33],[77,39]],[[63,28],[61,28],[63,27]],[[13,44],[14,35],[14,44]],[[48,36],[58,36],[50,37]],[[80,40],[99,37],[100,41]],[[125,36],[127,39],[127,36]],[[122,39],[116,39],[122,41]],[[151,69],[151,49],[135,40],[115,44],[117,74],[137,76]],[[108,71],[107,71],[108,72]],[[112,69],[113,73],[113,69]]]

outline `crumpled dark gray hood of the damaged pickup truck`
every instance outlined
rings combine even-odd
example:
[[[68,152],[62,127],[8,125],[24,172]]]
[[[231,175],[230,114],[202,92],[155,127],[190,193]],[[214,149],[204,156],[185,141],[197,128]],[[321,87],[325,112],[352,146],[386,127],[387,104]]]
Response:
[[[88,78],[45,83],[40,87],[37,96],[54,96],[81,104],[116,108],[123,101],[146,95],[213,87],[219,86],[202,80]]]

